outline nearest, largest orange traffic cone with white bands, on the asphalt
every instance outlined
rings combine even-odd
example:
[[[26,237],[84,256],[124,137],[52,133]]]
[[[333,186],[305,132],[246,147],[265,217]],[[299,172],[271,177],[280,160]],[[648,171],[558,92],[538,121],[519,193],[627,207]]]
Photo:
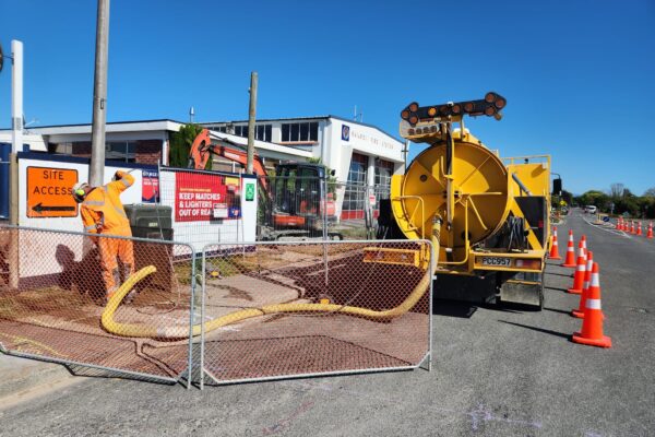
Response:
[[[584,304],[582,330],[573,334],[573,342],[590,346],[611,347],[611,339],[603,334],[603,310],[600,309],[600,281],[598,263],[594,262],[592,279]]]

